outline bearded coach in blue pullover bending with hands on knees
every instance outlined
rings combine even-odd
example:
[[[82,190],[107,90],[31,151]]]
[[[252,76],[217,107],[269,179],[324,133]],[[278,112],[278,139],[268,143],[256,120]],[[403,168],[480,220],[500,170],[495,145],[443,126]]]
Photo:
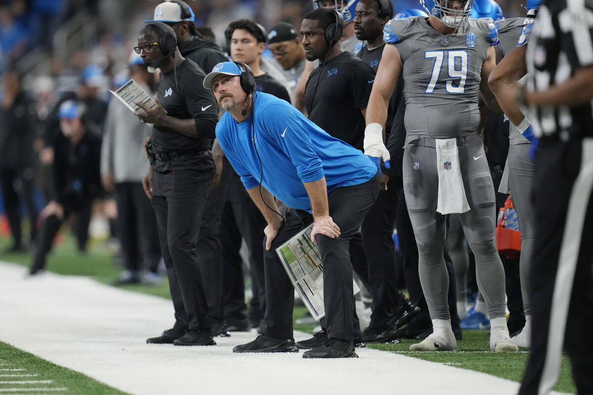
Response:
[[[357,357],[348,246],[377,199],[377,166],[288,102],[256,92],[253,74],[243,63],[219,63],[203,85],[212,89],[225,111],[216,124],[216,138],[267,221],[263,334],[233,351],[297,351],[292,333],[294,289],[275,250],[313,222],[311,240],[317,242],[323,262],[329,341],[303,358]],[[290,207],[285,218],[273,197]]]

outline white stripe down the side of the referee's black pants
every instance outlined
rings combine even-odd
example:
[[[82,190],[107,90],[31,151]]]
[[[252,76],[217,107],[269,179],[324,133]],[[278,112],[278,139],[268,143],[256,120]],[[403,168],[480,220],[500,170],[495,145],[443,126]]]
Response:
[[[570,191],[568,211],[566,212],[556,282],[552,293],[546,358],[538,388],[540,395],[547,395],[560,376],[566,317],[568,316],[572,285],[575,281],[576,264],[581,250],[585,223],[584,213],[591,198],[592,188],[593,139],[588,138],[583,139],[582,142],[581,171],[575,180],[572,191]]]

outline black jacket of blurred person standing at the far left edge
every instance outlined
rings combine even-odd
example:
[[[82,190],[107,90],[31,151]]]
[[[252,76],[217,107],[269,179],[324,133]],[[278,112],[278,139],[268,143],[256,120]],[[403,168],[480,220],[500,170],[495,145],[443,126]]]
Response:
[[[0,169],[33,165],[36,122],[35,103],[23,92],[10,108],[0,110]]]

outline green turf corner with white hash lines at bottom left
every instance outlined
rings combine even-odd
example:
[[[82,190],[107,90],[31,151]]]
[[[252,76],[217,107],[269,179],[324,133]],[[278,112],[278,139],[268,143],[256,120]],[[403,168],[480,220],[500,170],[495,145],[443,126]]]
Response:
[[[0,342],[0,393],[126,394]]]

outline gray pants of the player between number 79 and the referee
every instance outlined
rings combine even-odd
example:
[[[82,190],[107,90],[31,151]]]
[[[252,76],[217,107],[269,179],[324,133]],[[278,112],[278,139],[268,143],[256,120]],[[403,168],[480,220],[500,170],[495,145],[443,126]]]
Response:
[[[535,179],[535,166],[529,158],[531,144],[509,146],[509,188],[513,196],[513,207],[517,210],[519,230],[521,231],[521,257],[519,258],[519,278],[525,315],[531,314],[528,290],[531,271],[531,253],[535,240],[535,210],[531,192]]]

